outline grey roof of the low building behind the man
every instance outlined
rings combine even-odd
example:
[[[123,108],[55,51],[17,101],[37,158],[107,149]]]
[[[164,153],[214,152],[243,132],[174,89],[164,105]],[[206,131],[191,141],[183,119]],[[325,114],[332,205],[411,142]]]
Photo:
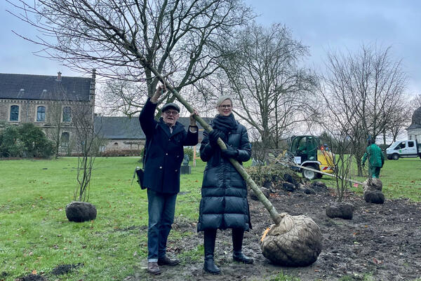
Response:
[[[209,123],[213,118],[203,118]],[[189,117],[180,117],[178,122],[189,126]],[[198,123],[199,139],[203,136],[203,128]],[[95,132],[100,130],[100,135],[105,139],[146,139],[145,133],[140,128],[139,117],[112,117],[112,116],[95,116],[94,120]]]

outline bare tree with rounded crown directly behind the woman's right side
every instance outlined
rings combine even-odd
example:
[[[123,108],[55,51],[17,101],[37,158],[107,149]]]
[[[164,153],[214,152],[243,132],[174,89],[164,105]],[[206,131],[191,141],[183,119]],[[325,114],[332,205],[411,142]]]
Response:
[[[314,118],[316,77],[299,67],[308,50],[286,27],[250,25],[225,54],[227,86],[240,102],[234,111],[258,130],[264,146],[278,149],[287,133]]]

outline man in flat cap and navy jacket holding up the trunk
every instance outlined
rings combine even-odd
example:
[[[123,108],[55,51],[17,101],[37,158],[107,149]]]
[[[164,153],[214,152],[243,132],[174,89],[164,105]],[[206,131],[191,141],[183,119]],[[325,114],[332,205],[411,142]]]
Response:
[[[177,121],[180,113],[177,104],[165,104],[162,117],[159,121],[154,119],[156,103],[165,90],[165,85],[160,83],[139,116],[146,135],[143,186],[147,188],[149,213],[147,270],[152,274],[161,273],[159,266],[175,266],[180,262],[166,256],[166,243],[174,221],[175,199],[180,192],[183,146],[196,145],[199,137],[193,117],[196,111],[190,115],[187,132]]]

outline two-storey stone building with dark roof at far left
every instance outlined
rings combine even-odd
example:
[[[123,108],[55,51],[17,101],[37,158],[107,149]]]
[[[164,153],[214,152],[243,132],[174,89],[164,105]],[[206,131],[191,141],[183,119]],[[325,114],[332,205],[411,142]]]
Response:
[[[72,115],[95,108],[95,69],[91,78],[31,74],[0,74],[0,126],[34,123],[71,154],[76,143]]]

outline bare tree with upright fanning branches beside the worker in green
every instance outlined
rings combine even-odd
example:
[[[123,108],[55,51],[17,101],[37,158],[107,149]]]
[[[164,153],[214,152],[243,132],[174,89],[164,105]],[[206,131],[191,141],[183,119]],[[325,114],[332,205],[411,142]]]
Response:
[[[389,53],[390,48],[370,46],[362,46],[355,54],[328,53],[323,90],[337,104],[335,114],[349,124],[347,135],[359,176],[367,137],[376,138],[388,130],[396,112],[407,107],[406,74],[401,61],[392,60]]]

